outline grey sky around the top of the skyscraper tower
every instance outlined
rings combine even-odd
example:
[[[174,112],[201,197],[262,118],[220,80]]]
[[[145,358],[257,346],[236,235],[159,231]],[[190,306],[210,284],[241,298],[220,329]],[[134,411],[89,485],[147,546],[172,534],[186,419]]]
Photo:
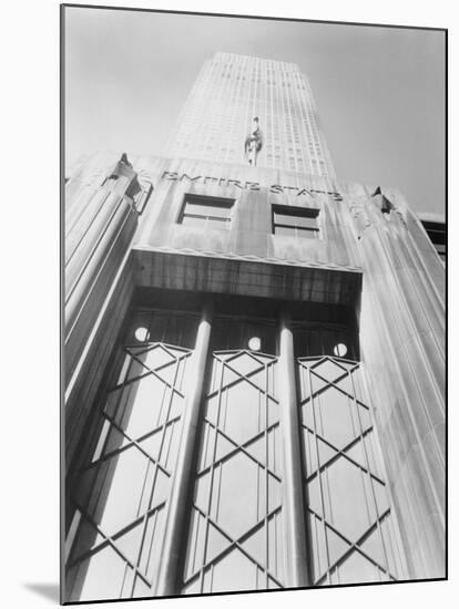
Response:
[[[294,62],[339,179],[399,188],[445,216],[445,34],[91,8],[65,10],[65,165],[95,151],[162,155],[217,51]]]

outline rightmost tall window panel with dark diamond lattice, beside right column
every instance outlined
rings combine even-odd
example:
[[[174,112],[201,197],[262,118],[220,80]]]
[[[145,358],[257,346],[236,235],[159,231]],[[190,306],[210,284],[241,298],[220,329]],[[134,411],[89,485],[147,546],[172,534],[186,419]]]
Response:
[[[404,562],[359,363],[297,362],[313,584],[399,579]]]

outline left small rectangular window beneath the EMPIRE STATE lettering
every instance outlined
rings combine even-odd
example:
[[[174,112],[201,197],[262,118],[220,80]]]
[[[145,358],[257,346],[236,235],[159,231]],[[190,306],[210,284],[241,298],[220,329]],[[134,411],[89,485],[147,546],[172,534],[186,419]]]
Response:
[[[205,228],[230,228],[235,199],[185,195],[178,224]]]

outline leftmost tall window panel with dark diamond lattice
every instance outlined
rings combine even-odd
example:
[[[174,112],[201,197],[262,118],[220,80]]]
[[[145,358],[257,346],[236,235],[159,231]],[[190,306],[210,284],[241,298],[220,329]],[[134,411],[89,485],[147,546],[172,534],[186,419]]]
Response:
[[[69,600],[153,593],[190,354],[165,343],[125,349],[71,491]]]

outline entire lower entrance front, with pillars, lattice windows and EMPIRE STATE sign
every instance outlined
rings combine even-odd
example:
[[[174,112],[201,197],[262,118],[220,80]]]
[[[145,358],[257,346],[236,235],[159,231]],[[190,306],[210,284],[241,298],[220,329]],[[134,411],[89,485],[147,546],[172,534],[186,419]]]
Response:
[[[65,190],[65,600],[443,577],[445,268],[404,197],[121,153]]]

